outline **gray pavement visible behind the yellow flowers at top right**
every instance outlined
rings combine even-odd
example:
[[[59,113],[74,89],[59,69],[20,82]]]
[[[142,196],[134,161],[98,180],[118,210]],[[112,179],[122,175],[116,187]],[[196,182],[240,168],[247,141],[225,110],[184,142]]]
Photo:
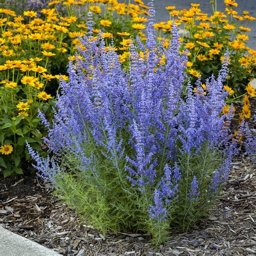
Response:
[[[144,3],[148,3],[149,0],[144,0]],[[250,11],[251,16],[256,17],[256,0],[237,0],[238,8],[233,8],[237,10],[240,14],[242,11]],[[165,6],[175,5],[177,10],[189,9],[190,3],[201,4],[200,9],[207,14],[212,14],[212,5],[210,0],[154,0],[154,6],[156,9],[156,21],[167,21],[169,19],[169,11],[165,9]],[[217,9],[219,11],[224,11],[226,5],[223,0],[217,0]],[[251,28],[247,35],[250,36],[248,41],[248,46],[256,49],[256,21],[252,21],[248,24]]]

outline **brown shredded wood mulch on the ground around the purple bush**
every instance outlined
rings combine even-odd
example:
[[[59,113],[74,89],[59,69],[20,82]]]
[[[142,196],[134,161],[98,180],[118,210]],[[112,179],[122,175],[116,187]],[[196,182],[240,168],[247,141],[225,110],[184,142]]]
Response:
[[[154,252],[141,234],[108,233],[87,226],[34,177],[0,180],[0,224],[63,255],[255,255],[256,169],[236,158],[220,199],[191,233],[172,234]]]

